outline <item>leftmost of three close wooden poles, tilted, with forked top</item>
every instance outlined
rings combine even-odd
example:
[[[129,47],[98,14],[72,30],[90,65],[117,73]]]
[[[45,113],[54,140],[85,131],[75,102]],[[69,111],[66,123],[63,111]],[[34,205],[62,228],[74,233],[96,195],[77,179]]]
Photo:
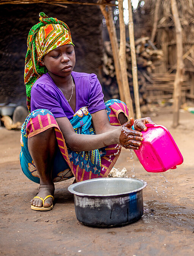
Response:
[[[114,60],[114,68],[116,73],[116,80],[119,88],[119,96],[122,101],[125,102],[125,96],[122,88],[122,76],[121,76],[121,68],[119,63],[119,46],[116,36],[116,28],[113,24],[113,15],[111,7],[108,7],[108,11],[106,11],[105,6],[100,5],[100,10],[102,14],[105,16],[107,22],[108,35],[110,37],[112,52],[113,52],[113,60]]]

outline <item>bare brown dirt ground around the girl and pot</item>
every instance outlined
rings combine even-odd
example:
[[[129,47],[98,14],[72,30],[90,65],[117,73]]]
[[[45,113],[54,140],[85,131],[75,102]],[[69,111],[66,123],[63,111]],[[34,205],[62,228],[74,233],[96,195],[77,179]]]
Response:
[[[0,127],[0,255],[194,255],[194,114],[181,113],[172,129],[171,108],[153,121],[166,126],[184,163],[176,170],[148,173],[135,159],[135,177],[148,182],[143,190],[144,214],[133,224],[94,228],[76,219],[73,179],[56,184],[52,211],[30,209],[38,185],[23,175],[19,164],[20,131]],[[126,167],[132,177],[133,161],[123,149],[115,167]]]

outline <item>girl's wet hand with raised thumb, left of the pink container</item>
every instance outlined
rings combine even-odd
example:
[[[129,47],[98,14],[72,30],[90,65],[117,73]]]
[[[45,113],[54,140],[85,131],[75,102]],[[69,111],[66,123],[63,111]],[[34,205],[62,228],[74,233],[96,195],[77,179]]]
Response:
[[[121,128],[119,143],[126,149],[139,149],[143,141],[142,133],[131,129],[134,119],[130,118],[128,123],[124,123]]]

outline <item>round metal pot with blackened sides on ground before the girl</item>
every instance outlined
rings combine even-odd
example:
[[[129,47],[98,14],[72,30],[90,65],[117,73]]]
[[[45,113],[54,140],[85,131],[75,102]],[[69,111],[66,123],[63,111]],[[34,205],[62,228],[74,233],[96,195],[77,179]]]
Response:
[[[137,221],[143,215],[143,188],[137,178],[97,178],[72,184],[77,219],[92,226],[116,226]]]

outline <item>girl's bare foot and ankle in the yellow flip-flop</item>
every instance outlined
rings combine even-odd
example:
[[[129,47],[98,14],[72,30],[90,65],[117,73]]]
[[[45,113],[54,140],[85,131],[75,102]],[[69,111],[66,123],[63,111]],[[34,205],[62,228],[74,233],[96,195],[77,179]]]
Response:
[[[45,198],[46,196],[48,195],[52,195],[54,196],[54,184],[52,185],[43,185],[43,184],[40,184],[40,187],[39,187],[39,192],[37,194],[37,196],[40,196],[41,198]],[[43,206],[43,201],[39,198],[34,198],[30,201],[30,203],[33,205],[33,206],[36,206],[36,207],[42,207]],[[45,203],[44,203],[44,207],[45,208],[48,208],[52,205],[52,198],[49,197],[45,200]]]

